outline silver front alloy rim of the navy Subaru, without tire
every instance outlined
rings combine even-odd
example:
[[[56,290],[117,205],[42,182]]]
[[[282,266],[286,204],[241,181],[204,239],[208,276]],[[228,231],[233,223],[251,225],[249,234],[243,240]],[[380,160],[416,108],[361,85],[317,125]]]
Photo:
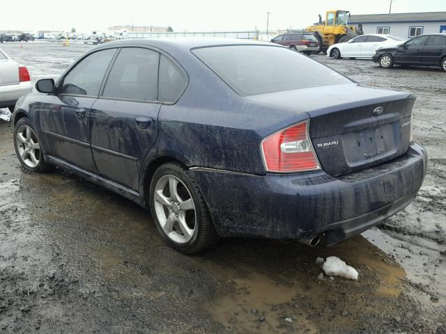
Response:
[[[30,168],[36,168],[40,162],[40,144],[33,129],[28,125],[21,125],[17,129],[15,141],[24,164]]]

